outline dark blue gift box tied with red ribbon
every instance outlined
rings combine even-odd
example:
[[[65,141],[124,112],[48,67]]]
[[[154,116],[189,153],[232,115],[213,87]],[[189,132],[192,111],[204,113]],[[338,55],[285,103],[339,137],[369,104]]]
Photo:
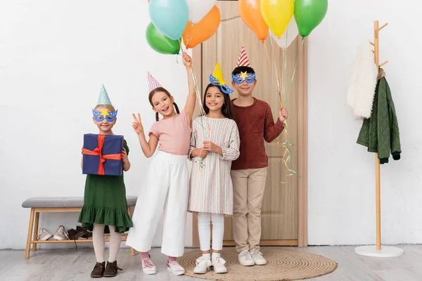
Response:
[[[82,174],[120,176],[123,136],[84,134]]]

